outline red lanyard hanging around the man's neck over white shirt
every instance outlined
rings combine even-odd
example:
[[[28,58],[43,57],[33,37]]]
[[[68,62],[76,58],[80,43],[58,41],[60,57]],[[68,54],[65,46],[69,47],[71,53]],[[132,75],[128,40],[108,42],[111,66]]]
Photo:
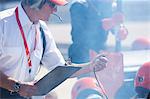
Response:
[[[25,50],[26,50],[26,56],[28,58],[29,73],[31,73],[32,63],[31,63],[31,58],[30,58],[30,52],[29,52],[29,47],[28,47],[28,44],[27,44],[27,41],[26,41],[26,38],[25,38],[25,34],[24,34],[24,31],[23,31],[21,22],[19,20],[18,7],[15,10],[15,14],[16,14],[16,20],[17,20],[17,23],[18,23],[18,26],[19,26],[19,29],[20,29],[20,33],[22,35],[22,39],[23,39],[23,42],[24,42],[24,47],[25,47]]]

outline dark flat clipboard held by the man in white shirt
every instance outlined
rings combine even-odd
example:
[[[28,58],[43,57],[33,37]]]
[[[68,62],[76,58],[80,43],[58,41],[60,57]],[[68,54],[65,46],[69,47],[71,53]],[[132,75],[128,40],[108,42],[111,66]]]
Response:
[[[46,95],[80,69],[81,67],[57,66],[34,84],[37,86],[34,96]]]

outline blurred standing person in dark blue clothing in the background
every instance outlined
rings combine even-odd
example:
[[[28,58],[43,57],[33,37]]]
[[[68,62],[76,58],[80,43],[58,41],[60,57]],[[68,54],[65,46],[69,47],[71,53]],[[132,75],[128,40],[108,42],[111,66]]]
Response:
[[[119,26],[116,38],[119,40],[126,38],[127,29],[120,25],[124,19],[124,15],[119,11],[120,6],[119,0],[72,1],[70,7],[72,44],[68,51],[71,62],[88,62],[90,50],[96,52],[106,50],[108,33],[111,31],[116,35],[114,32],[116,26]]]

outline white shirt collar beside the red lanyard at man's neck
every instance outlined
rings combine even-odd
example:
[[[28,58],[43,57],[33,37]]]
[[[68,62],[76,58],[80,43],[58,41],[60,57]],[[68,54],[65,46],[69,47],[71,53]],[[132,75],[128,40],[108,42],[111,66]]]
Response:
[[[19,19],[21,22],[22,26],[25,25],[32,25],[33,23],[30,21],[29,17],[27,16],[27,14],[25,13],[24,9],[22,8],[21,3],[18,5],[18,12],[19,12]]]

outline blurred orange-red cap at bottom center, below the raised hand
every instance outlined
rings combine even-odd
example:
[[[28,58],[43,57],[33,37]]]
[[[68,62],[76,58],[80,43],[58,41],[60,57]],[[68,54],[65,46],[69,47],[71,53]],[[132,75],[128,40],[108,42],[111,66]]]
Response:
[[[102,85],[101,85],[102,86]],[[102,87],[103,88],[103,87]],[[79,79],[72,88],[72,99],[87,99],[89,95],[102,96],[102,90],[92,77]]]

